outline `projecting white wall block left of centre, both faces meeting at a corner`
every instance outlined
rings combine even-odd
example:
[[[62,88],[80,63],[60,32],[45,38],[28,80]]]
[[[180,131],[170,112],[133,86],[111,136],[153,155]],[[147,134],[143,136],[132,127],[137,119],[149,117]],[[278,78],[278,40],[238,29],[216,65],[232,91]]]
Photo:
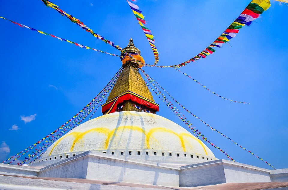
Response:
[[[88,151],[40,169],[38,177],[179,186],[179,167]]]

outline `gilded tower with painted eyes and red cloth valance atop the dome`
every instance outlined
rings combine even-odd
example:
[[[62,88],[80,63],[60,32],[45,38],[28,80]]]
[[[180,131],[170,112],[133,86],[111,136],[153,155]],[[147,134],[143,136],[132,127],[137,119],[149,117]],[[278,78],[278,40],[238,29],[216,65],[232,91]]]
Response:
[[[124,48],[134,59],[144,63],[141,52],[135,47],[131,38]],[[156,113],[159,105],[155,103],[151,92],[146,86],[138,68],[139,64],[131,61],[130,57],[121,54],[123,71],[110,92],[105,104],[102,105],[102,113],[108,114],[119,111],[138,111]]]

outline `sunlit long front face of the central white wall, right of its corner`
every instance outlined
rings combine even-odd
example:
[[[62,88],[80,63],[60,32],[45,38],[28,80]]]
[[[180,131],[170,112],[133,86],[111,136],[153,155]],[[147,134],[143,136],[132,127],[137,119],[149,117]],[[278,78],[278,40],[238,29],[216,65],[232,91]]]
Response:
[[[121,159],[124,160],[90,156],[87,178],[128,183],[179,186],[179,169],[177,168],[167,168],[161,166],[159,163],[142,162],[140,160],[135,161],[131,158]]]

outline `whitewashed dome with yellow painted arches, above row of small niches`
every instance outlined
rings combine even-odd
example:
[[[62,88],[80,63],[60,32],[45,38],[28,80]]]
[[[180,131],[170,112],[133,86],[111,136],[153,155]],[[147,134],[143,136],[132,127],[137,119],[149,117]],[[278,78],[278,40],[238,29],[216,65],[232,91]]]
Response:
[[[215,158],[203,142],[173,121],[131,111],[102,115],[79,125],[55,141],[43,156],[119,149],[179,151]]]

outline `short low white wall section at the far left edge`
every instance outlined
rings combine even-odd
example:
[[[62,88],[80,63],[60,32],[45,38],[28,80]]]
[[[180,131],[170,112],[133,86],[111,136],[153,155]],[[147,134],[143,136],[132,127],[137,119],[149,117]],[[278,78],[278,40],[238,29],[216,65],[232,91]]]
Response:
[[[36,177],[39,169],[0,163],[0,174]]]

